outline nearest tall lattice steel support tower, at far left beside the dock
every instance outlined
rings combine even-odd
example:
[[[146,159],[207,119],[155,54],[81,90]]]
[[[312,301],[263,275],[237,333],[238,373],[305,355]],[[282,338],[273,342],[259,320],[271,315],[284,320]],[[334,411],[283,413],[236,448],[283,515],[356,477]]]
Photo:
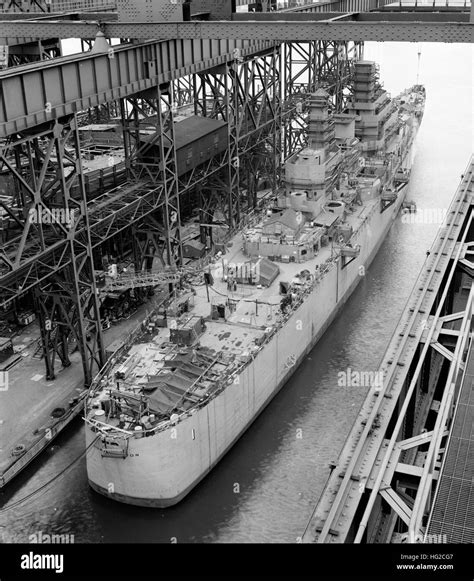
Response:
[[[49,264],[48,272],[53,276],[47,281],[43,280],[36,292],[46,377],[54,379],[56,355],[59,355],[63,365],[69,364],[68,338],[74,336],[82,355],[84,381],[89,385],[95,372],[105,363],[105,350],[75,117],[67,125],[55,123],[52,130],[42,137],[45,153],[41,159],[40,149],[34,143],[36,138],[33,139],[33,148],[27,140],[15,144],[17,151],[20,145],[26,149],[27,166],[20,164],[14,168],[9,152],[2,151],[0,157],[14,173],[24,201],[23,207],[17,208],[17,217],[23,228],[20,238],[12,245],[12,248],[17,245],[16,255],[13,262],[7,260],[5,265],[7,268],[18,266],[25,252],[31,248],[44,252],[51,240],[62,241],[61,258],[67,260],[67,264],[61,260]],[[53,151],[56,155],[53,168],[56,175],[48,179]],[[67,162],[70,162],[68,173]],[[51,184],[56,182],[60,187],[52,189]],[[73,197],[72,186],[76,184],[79,185],[80,195],[77,196],[76,188]],[[2,256],[5,261],[5,254],[2,253]]]

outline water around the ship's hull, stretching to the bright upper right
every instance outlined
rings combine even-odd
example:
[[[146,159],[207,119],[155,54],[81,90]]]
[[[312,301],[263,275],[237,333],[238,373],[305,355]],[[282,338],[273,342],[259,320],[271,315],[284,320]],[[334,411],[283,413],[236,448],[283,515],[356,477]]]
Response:
[[[385,87],[416,81],[416,44],[367,44]],[[407,198],[418,210],[446,209],[474,150],[473,49],[423,45],[425,116]],[[422,214],[419,214],[422,215]],[[178,506],[153,510],[93,493],[84,458],[41,494],[0,513],[0,539],[69,534],[74,542],[295,542],[357,416],[366,388],[338,387],[348,367],[375,371],[438,224],[393,225],[343,312],[280,394],[204,481]],[[0,497],[15,502],[80,456],[78,422]]]

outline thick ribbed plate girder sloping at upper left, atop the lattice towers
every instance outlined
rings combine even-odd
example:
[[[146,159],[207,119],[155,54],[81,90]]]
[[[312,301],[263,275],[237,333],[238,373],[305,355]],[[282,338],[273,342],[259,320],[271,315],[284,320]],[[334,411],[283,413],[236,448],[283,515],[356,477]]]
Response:
[[[273,43],[170,40],[111,47],[0,73],[0,138],[270,50]]]

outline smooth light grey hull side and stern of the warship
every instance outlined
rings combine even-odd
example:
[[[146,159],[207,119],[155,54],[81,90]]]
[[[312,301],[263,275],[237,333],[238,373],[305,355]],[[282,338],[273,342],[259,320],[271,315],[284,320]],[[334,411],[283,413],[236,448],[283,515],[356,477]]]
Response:
[[[405,188],[384,212],[379,203],[367,209],[351,239],[360,245],[359,256],[345,268],[341,261],[334,263],[233,384],[205,406],[182,414],[152,437],[124,438],[120,458],[104,457],[103,441],[86,424],[91,487],[140,506],[168,507],[182,500],[255,421],[332,323],[361,280],[361,267],[366,269],[377,254],[404,197]]]

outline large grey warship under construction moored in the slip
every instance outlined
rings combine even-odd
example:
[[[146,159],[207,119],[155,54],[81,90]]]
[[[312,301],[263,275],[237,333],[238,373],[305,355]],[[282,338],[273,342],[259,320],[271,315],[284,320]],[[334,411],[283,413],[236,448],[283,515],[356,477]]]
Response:
[[[170,292],[109,358],[85,405],[90,486],[167,507],[204,478],[350,297],[406,194],[425,89],[391,99],[354,65],[344,113],[311,95],[284,187]]]

